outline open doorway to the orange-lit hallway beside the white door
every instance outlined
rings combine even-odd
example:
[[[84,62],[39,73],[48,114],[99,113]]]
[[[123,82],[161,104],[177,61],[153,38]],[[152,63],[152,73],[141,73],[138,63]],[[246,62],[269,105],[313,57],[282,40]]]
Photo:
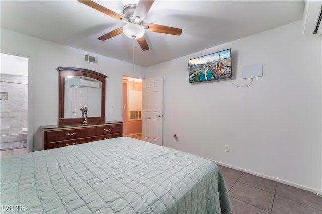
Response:
[[[142,79],[123,76],[123,136],[142,138]]]

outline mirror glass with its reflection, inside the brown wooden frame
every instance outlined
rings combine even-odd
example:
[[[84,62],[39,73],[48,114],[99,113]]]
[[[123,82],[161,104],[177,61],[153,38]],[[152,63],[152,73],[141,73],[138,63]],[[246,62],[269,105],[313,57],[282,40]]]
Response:
[[[86,76],[65,77],[65,118],[101,116],[101,82]]]

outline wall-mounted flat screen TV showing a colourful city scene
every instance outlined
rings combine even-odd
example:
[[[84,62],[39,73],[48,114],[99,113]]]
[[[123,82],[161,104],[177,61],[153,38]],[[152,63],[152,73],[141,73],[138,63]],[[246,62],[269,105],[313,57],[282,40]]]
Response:
[[[188,60],[189,83],[232,77],[231,49]]]

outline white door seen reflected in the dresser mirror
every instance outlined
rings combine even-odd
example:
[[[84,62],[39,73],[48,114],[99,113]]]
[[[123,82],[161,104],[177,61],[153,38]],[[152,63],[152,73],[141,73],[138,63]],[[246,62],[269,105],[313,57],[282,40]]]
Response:
[[[82,117],[82,107],[87,105],[87,95],[86,88],[84,87],[70,87],[70,100],[71,100],[71,117],[81,118]]]

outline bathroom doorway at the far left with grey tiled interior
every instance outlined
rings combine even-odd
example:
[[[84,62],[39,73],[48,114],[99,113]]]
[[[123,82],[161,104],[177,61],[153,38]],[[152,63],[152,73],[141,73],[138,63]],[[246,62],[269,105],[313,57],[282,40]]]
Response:
[[[28,58],[1,53],[0,156],[27,153]]]

